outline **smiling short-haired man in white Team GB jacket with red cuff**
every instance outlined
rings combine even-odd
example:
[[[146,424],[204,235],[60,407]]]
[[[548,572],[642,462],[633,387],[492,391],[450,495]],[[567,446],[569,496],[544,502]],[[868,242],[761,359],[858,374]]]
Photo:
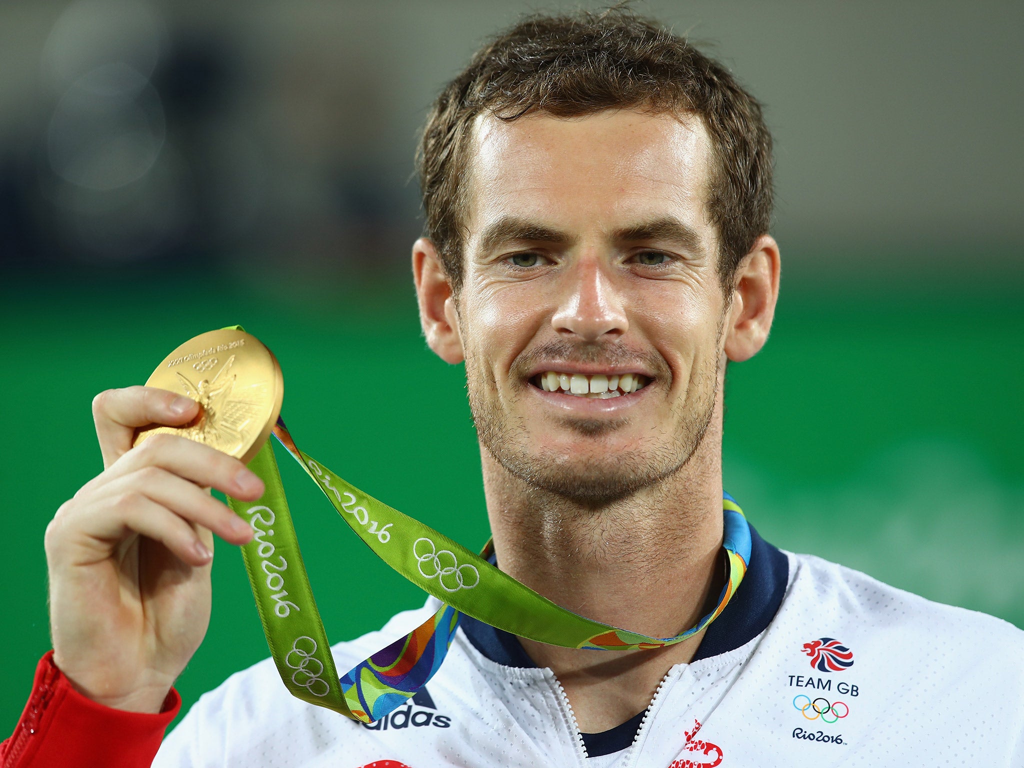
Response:
[[[444,89],[419,166],[420,316],[466,362],[498,565],[599,622],[693,627],[729,567],[726,365],[764,345],[778,294],[758,103],[628,11],[535,17]],[[7,765],[157,751],[207,625],[211,537],[250,539],[202,488],[262,492],[181,438],[131,449],[196,408],[97,397],[106,469],[47,531],[54,651]],[[264,662],[205,695],[154,764],[1024,764],[1021,632],[750,540],[739,588],[683,642],[578,650],[464,618],[426,688],[369,726],[291,698]],[[436,606],[339,644],[340,669]]]

